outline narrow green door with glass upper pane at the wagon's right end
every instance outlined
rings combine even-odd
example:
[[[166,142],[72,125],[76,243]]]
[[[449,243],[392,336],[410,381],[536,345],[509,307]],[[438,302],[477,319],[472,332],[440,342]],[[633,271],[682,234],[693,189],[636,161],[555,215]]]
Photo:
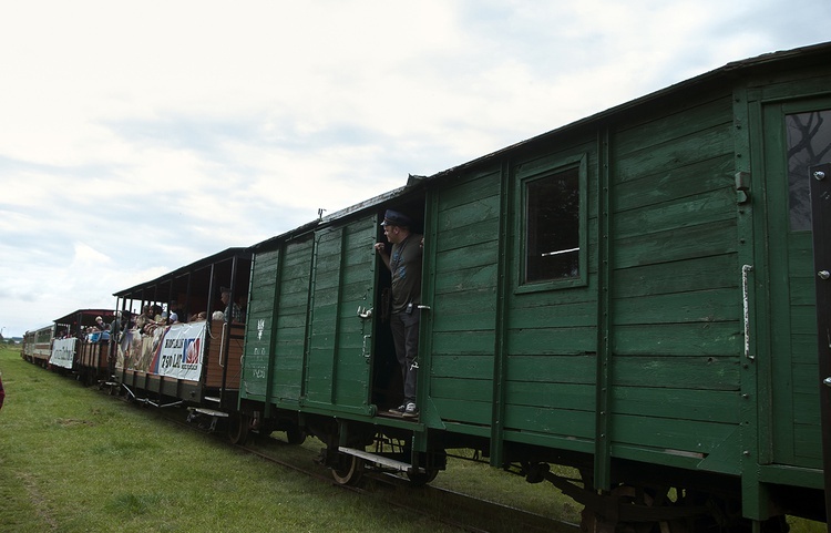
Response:
[[[763,110],[771,303],[770,351],[759,363],[769,365],[772,410],[771,457],[761,462],[801,469],[822,468],[809,167],[831,143],[828,110],[829,101]]]

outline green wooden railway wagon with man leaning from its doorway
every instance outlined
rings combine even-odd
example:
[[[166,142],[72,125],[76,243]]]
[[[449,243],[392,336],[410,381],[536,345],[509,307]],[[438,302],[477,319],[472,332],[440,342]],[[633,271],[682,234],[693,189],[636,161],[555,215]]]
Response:
[[[829,162],[824,43],[411,176],[261,243],[244,426],[315,432],[346,482],[358,460],[423,480],[444,449],[475,448],[573,495],[595,531],[824,521],[831,236],[812,224],[831,193],[814,193],[812,217],[809,189]],[[388,207],[425,236],[416,421],[386,412],[400,383],[372,244]],[[403,453],[370,453],[380,434]]]

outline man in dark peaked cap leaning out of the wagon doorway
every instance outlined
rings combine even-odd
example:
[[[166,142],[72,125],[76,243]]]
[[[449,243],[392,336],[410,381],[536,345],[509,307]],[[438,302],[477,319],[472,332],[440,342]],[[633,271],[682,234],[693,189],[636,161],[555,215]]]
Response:
[[[404,382],[403,402],[400,407],[390,409],[390,412],[404,418],[417,418],[419,409],[416,406],[416,361],[419,355],[421,256],[424,237],[412,233],[413,222],[397,211],[387,209],[381,226],[392,246],[388,250],[386,243],[376,243],[375,249],[392,274],[390,329]]]

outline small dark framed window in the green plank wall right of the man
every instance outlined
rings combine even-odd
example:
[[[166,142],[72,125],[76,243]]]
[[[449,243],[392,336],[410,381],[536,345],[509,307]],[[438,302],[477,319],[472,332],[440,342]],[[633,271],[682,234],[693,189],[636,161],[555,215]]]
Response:
[[[525,283],[579,276],[579,168],[525,182]]]

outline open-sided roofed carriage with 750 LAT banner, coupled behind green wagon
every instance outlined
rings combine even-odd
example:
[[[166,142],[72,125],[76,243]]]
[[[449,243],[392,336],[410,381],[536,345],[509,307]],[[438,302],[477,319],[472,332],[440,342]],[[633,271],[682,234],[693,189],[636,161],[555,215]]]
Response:
[[[131,399],[196,406],[212,423],[227,418],[239,389],[244,316],[225,312],[244,309],[249,275],[250,253],[229,248],[114,295],[113,373]]]

